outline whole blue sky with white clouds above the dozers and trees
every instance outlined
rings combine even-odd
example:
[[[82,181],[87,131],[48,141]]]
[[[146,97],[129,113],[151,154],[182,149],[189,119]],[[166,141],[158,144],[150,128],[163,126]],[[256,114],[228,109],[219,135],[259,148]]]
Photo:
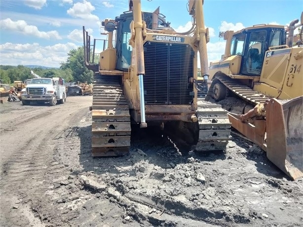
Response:
[[[191,27],[188,0],[141,0],[144,11],[160,13],[177,31]],[[128,0],[0,0],[0,65],[59,67],[70,49],[83,44],[82,26],[101,38],[101,21],[128,10]],[[219,31],[255,24],[288,25],[300,18],[303,0],[204,0],[210,31],[208,60],[220,59]]]

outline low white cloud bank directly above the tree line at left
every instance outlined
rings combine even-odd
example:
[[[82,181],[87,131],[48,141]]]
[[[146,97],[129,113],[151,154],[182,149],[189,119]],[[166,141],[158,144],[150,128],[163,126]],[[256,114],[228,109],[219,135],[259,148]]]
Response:
[[[71,42],[53,46],[6,42],[0,44],[0,65],[42,65],[57,68],[61,62],[66,62],[68,52],[75,48],[77,45]]]

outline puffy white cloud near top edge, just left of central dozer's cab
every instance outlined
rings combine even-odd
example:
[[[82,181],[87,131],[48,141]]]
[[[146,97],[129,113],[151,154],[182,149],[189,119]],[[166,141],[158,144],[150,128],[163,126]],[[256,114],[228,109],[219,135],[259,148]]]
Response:
[[[83,0],[82,3],[75,3],[72,8],[67,10],[67,13],[73,17],[99,21],[99,17],[91,13],[94,10],[95,7],[89,1]]]

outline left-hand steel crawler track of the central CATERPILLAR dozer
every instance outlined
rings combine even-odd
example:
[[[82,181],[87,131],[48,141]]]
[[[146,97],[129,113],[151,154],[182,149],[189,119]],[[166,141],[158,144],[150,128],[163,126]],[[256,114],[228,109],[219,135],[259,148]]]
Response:
[[[124,155],[130,147],[130,114],[120,76],[94,76],[92,156]]]

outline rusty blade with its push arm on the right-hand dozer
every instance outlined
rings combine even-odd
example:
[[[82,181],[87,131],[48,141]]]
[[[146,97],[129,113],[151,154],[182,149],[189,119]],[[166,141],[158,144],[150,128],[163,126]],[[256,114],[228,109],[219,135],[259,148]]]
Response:
[[[267,158],[289,177],[303,177],[303,96],[284,104],[270,99],[266,120],[243,123],[228,113],[233,128],[266,151]]]

